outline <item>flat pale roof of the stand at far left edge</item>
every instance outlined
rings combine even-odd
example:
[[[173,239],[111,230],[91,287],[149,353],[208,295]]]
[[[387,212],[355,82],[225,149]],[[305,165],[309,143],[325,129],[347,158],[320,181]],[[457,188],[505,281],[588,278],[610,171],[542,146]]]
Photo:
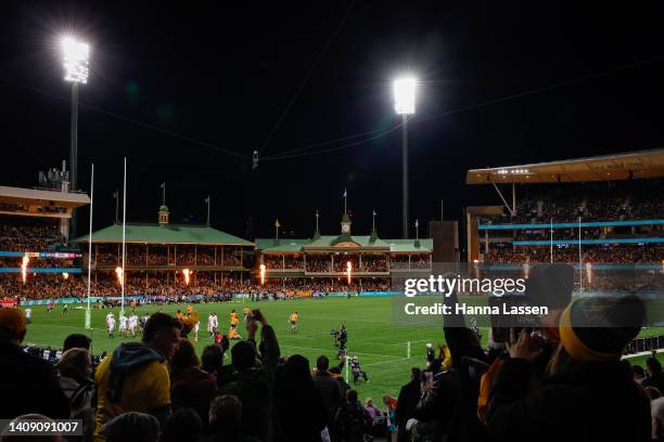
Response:
[[[90,204],[85,193],[0,185],[0,213],[71,218],[72,209]]]

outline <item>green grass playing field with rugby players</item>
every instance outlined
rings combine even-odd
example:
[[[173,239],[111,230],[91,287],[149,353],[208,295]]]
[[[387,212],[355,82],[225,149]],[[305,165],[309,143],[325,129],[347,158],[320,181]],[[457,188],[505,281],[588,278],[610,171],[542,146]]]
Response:
[[[222,302],[194,304],[201,316],[201,338],[196,343],[199,354],[203,348],[212,343],[206,335],[207,315],[217,313],[219,329],[228,330],[232,309],[241,312],[243,303]],[[328,298],[323,300],[290,300],[278,302],[247,303],[251,308],[260,308],[268,322],[274,327],[281,347],[282,355],[303,354],[314,367],[316,358],[327,354],[332,362],[336,361],[336,348],[333,346],[330,332],[345,324],[348,329],[348,349],[350,355],[360,358],[362,368],[368,373],[370,382],[363,381],[355,386],[360,398],[378,399],[383,394],[398,394],[399,387],[409,379],[410,367],[424,365],[425,343],[444,343],[440,326],[399,326],[393,323],[391,298]],[[165,306],[167,313],[184,310],[184,304]],[[146,306],[137,309],[139,314],[153,313],[158,306]],[[117,318],[119,309],[112,310]],[[291,334],[288,317],[293,311],[298,311],[299,322],[297,333]],[[61,313],[61,307],[47,313],[46,307],[33,307],[33,323],[28,326],[25,343],[37,346],[62,347],[65,337],[72,333],[85,333],[92,338],[92,352],[113,351],[120,342],[133,338],[108,338],[105,316],[108,310],[93,309],[92,329],[86,330],[85,310],[77,306],[69,307],[68,314]],[[116,327],[119,324],[116,324]],[[241,334],[245,336],[244,329]],[[488,330],[483,329],[483,344],[486,344]],[[643,329],[642,336],[662,335],[664,329]],[[407,342],[411,342],[411,358],[407,359]],[[664,356],[663,356],[664,358]],[[636,358],[634,362],[643,364],[644,356]],[[230,363],[230,354],[226,364]]]

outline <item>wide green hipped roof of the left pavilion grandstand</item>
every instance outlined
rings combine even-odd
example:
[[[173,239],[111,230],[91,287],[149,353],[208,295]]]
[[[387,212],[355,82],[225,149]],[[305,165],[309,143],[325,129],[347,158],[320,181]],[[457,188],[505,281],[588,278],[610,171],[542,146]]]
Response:
[[[88,236],[80,236],[74,243],[87,243]],[[123,226],[113,224],[92,233],[92,243],[122,243]],[[143,244],[191,244],[191,245],[228,245],[253,246],[254,243],[238,236],[209,227],[207,225],[182,224],[127,224],[126,243]]]

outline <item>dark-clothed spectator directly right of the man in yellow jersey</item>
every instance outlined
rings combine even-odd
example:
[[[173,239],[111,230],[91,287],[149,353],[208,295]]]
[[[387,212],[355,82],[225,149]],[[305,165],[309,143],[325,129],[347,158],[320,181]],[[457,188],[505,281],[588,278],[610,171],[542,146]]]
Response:
[[[209,402],[217,393],[217,378],[202,370],[193,343],[180,339],[170,363],[170,399],[174,410],[193,408],[207,420]]]

